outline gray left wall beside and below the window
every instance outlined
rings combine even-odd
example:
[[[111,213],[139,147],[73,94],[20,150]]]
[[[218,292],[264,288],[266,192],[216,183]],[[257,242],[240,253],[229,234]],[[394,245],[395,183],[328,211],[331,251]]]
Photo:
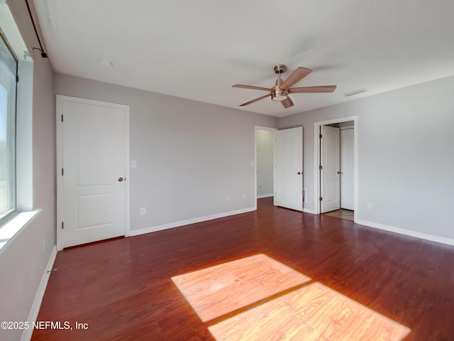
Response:
[[[25,1],[8,1],[29,51],[37,46]],[[42,209],[0,254],[0,320],[26,321],[55,245],[55,126],[49,60],[33,53],[33,208]],[[45,248],[43,250],[43,242]],[[20,340],[22,330],[0,330]]]

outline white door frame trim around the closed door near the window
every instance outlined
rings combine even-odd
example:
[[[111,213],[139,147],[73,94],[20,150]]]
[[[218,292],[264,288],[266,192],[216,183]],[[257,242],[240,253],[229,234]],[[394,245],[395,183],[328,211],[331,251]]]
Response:
[[[92,104],[92,105],[101,105],[104,107],[112,107],[123,109],[125,112],[125,237],[131,235],[130,229],[130,185],[131,175],[129,167],[129,106],[125,104],[116,104],[109,102],[95,101],[92,99],[84,99],[79,97],[65,96],[62,94],[57,94],[56,96],[56,107],[55,107],[55,132],[56,132],[56,175],[57,175],[57,220],[56,220],[56,229],[57,229],[57,251],[63,249],[62,244],[62,221],[63,221],[63,177],[62,177],[62,168],[63,168],[63,125],[62,125],[62,114],[63,114],[63,102],[76,102],[82,104]]]

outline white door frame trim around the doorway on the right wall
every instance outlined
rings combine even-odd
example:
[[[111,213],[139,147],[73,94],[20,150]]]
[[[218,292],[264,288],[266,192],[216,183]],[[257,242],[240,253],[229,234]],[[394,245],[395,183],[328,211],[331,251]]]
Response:
[[[320,140],[319,140],[319,131],[320,126],[326,126],[328,124],[336,124],[345,121],[353,121],[354,129],[354,163],[353,171],[355,173],[355,179],[353,180],[354,184],[354,222],[358,220],[358,115],[348,116],[348,117],[339,117],[338,119],[328,119],[327,121],[318,121],[314,122],[314,211],[316,215],[319,215],[321,212],[320,208]]]

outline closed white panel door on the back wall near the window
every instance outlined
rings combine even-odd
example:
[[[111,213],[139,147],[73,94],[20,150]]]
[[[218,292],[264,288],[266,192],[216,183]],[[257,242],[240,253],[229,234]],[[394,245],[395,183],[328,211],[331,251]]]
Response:
[[[126,233],[127,106],[58,97],[62,133],[62,247]]]

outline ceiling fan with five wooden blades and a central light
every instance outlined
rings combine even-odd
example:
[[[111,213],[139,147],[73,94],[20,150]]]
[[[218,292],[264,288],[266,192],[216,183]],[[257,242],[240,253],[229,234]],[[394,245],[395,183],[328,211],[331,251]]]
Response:
[[[240,104],[240,107],[245,107],[246,105],[253,104],[260,99],[265,99],[267,97],[271,97],[271,99],[275,102],[281,102],[284,108],[293,107],[294,104],[292,99],[290,99],[289,94],[315,94],[319,92],[333,92],[336,90],[336,85],[321,85],[318,87],[292,87],[292,85],[297,84],[300,80],[304,77],[309,75],[312,70],[306,69],[305,67],[298,67],[297,70],[294,70],[286,80],[281,79],[281,74],[287,70],[287,66],[283,64],[279,64],[275,66],[275,73],[277,74],[276,85],[268,89],[267,87],[254,87],[253,85],[241,85],[236,84],[232,85],[232,87],[242,87],[243,89],[253,89],[253,90],[264,90],[269,91],[269,94],[265,94],[265,96],[258,97],[253,99],[252,101],[245,102]]]

